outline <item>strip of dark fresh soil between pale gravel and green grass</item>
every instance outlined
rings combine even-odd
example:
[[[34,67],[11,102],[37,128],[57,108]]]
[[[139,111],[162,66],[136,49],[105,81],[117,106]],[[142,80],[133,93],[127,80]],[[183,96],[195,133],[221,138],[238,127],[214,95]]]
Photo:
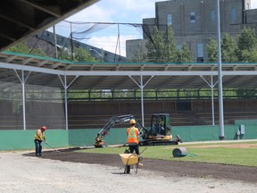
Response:
[[[38,157],[38,159],[53,159],[72,163],[104,164],[120,167],[121,171],[124,168],[120,155],[78,153],[75,152],[75,150],[79,150],[79,148],[63,149],[59,150],[59,153],[56,151],[46,151],[44,152],[44,155]],[[34,153],[24,155],[35,156]],[[243,180],[252,183],[257,182],[257,167],[177,162],[148,158],[145,158],[142,163],[144,164],[144,167],[142,167],[140,170],[153,171],[156,172],[156,175],[162,176],[187,176],[226,180]]]

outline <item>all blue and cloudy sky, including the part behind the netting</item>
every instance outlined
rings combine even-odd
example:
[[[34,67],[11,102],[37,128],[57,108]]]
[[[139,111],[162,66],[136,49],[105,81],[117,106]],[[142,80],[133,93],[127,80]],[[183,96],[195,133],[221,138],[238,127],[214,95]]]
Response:
[[[142,23],[144,18],[155,17],[155,2],[160,1],[163,0],[100,0],[85,10],[70,16],[65,21]],[[252,8],[257,8],[257,0],[252,0],[251,4]],[[105,29],[105,32],[103,30],[102,34],[99,31],[98,34],[95,33],[90,37],[86,37],[86,40],[83,40],[83,42],[125,56],[126,40],[142,38],[142,33],[140,34],[136,29],[126,29],[124,26],[121,26],[118,40],[117,30],[117,26],[114,26],[112,29]],[[109,33],[106,33],[106,31],[109,31]],[[117,50],[119,50],[119,47],[117,47],[118,43],[121,50],[119,53],[117,53]]]

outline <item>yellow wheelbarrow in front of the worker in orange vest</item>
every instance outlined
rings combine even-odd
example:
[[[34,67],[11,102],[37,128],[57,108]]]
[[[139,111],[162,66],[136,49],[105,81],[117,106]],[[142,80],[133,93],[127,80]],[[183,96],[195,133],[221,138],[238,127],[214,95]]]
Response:
[[[140,155],[145,151],[145,149],[139,155],[129,154],[129,150],[127,149],[124,154],[120,154],[122,163],[125,165],[124,173],[129,173],[131,166],[133,167],[134,172],[137,173],[138,166],[140,165],[139,163],[143,160],[143,157],[140,157]]]

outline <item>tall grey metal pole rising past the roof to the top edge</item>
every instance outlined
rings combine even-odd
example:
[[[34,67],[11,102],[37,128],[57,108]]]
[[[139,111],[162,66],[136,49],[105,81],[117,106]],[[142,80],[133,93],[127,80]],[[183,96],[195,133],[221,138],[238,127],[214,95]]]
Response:
[[[223,88],[222,88],[222,65],[221,65],[221,46],[220,46],[220,0],[217,0],[217,15],[218,15],[218,77],[219,77],[219,117],[220,117],[220,140],[224,136],[224,117],[223,117]]]

